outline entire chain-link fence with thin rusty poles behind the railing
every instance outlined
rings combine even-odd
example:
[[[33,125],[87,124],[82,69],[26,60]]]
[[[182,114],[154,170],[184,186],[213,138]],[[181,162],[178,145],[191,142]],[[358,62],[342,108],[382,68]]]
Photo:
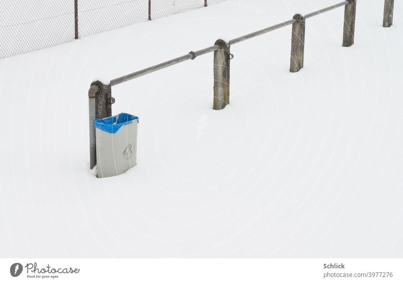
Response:
[[[0,0],[0,59],[224,1]]]

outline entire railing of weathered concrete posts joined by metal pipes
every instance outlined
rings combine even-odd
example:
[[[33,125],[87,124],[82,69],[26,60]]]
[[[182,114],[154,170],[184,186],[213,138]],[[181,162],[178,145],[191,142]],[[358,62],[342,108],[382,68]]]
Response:
[[[393,21],[393,3],[394,0],[385,0],[383,27],[390,27]],[[96,164],[96,141],[95,141],[95,119],[103,119],[112,115],[112,104],[115,99],[112,97],[111,87],[123,82],[139,78],[141,76],[168,68],[187,60],[194,60],[197,56],[214,52],[214,99],[213,109],[221,110],[229,104],[230,95],[230,60],[233,54],[230,48],[233,44],[242,42],[247,39],[277,30],[282,27],[293,25],[291,38],[291,60],[290,72],[299,72],[304,67],[304,48],[305,48],[305,21],[308,18],[320,15],[322,13],[345,7],[344,13],[344,29],[343,29],[343,46],[349,47],[354,44],[355,18],[356,18],[357,0],[347,0],[341,3],[326,7],[324,9],[306,14],[294,15],[293,19],[283,23],[258,30],[228,42],[217,40],[213,46],[200,49],[198,51],[190,51],[188,54],[178,58],[157,64],[155,66],[127,74],[125,76],[113,79],[108,85],[100,81],[91,84],[89,96],[89,112],[90,112],[90,167]]]

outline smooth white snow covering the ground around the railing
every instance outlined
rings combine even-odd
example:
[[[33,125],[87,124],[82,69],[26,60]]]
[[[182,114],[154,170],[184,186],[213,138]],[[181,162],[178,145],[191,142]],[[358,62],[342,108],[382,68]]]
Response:
[[[140,117],[138,164],[89,169],[88,97],[121,75],[335,4],[240,1],[0,61],[1,257],[403,256],[403,4],[358,1],[236,44],[231,104],[212,110],[213,55],[112,88]],[[150,44],[153,42],[153,44]]]

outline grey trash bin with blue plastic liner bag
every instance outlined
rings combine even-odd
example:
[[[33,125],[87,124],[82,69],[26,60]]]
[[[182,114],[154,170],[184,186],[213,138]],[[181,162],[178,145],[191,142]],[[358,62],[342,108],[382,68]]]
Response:
[[[137,162],[139,117],[126,113],[95,120],[97,177],[126,172]]]

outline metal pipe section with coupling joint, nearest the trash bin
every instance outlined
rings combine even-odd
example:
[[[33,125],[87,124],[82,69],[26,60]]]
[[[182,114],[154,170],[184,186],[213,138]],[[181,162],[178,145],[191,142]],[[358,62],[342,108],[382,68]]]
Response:
[[[219,48],[221,48],[220,45],[213,45],[213,46],[207,47],[205,49],[200,49],[200,50],[191,52],[191,53],[194,53],[194,56],[193,56],[193,54],[189,53],[189,54],[180,56],[178,58],[166,61],[164,63],[161,63],[161,64],[158,64],[158,65],[155,65],[155,66],[152,66],[152,67],[149,67],[149,68],[146,68],[146,69],[143,69],[143,70],[128,74],[126,76],[119,77],[117,79],[113,79],[113,80],[110,81],[110,84],[111,84],[111,86],[118,85],[118,84],[127,82],[129,80],[136,79],[138,77],[153,73],[155,71],[165,69],[165,68],[167,68],[169,66],[173,66],[173,65],[176,65],[178,63],[187,61],[189,59],[194,59],[197,56],[213,52],[214,50],[217,50]]]

